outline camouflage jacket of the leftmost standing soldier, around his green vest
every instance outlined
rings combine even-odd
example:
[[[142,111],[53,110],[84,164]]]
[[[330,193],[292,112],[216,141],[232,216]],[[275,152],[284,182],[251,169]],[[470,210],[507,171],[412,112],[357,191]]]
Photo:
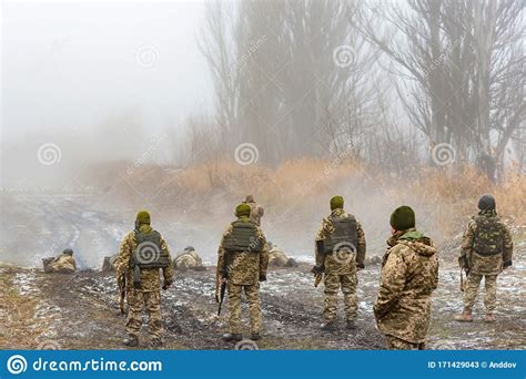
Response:
[[[166,249],[169,256],[170,250],[166,242],[161,237],[161,248]],[[114,262],[117,272],[117,279],[124,275],[127,280],[127,290],[133,289],[133,272],[130,269],[130,260],[136,249],[135,232],[128,233],[121,242],[119,254]],[[170,262],[172,259],[170,258]],[[173,280],[173,268],[168,266],[162,269],[165,281]],[[159,268],[143,268],[141,269],[141,290],[144,293],[160,290],[161,275]]]

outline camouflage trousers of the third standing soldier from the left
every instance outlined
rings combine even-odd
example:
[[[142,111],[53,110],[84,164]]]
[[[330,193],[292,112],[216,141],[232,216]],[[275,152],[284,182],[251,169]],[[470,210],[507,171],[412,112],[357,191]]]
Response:
[[[343,293],[343,305],[345,317],[347,320],[354,320],[358,309],[358,298],[356,296],[356,285],[358,279],[356,273],[337,275],[337,274],[325,274],[325,309],[323,317],[325,321],[334,321],[337,316],[337,295],[340,288]]]

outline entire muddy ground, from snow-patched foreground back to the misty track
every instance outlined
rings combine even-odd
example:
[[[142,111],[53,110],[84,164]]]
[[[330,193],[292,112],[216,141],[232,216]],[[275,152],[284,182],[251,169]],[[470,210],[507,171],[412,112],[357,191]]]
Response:
[[[117,284],[111,273],[93,268],[102,265],[104,255],[117,252],[120,238],[130,229],[129,221],[133,219],[135,209],[111,208],[102,202],[93,204],[91,197],[83,196],[3,195],[0,198],[4,209],[0,229],[0,348],[123,348],[124,319],[119,316]],[[213,264],[221,227],[181,217],[161,219],[160,223],[173,247],[173,255],[192,243],[204,262]],[[313,231],[315,227],[313,224]],[[307,232],[310,235],[314,233]],[[455,258],[461,235],[439,243],[441,277],[439,287],[434,293],[429,348],[526,347],[526,227],[513,226],[512,232],[515,240],[514,267],[499,276],[498,321],[494,325],[482,321],[482,299],[475,308],[475,322],[466,325],[453,320],[453,315],[462,310]],[[279,235],[277,231],[274,231],[275,235]],[[282,240],[276,239],[282,246]],[[306,263],[294,269],[272,269],[267,281],[262,284],[264,339],[257,342],[259,347],[384,348],[372,313],[380,266],[370,266],[358,273],[356,331],[348,332],[342,326],[336,332],[322,332],[318,327],[323,321],[323,286],[314,288],[312,274],[308,273],[312,265],[308,262],[312,259],[311,239],[300,235],[289,238],[290,243],[296,239],[307,243],[287,253],[300,260],[306,259]],[[368,237],[367,245],[370,255],[382,254],[384,249],[382,239],[374,235]],[[42,257],[54,255],[64,246],[75,250],[81,272],[58,275],[29,268],[39,267]],[[174,286],[163,291],[165,348],[234,348],[234,345],[223,344],[219,338],[226,331],[226,305],[222,316],[216,317],[213,281],[213,267],[204,273],[179,273]],[[141,347],[145,347],[145,335],[141,342]]]

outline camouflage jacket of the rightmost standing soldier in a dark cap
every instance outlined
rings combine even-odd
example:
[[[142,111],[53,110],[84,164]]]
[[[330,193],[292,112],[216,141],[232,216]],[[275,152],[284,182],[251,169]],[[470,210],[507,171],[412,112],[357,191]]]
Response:
[[[484,256],[475,252],[474,244],[477,237],[478,223],[496,223],[497,231],[495,235],[485,236],[487,240],[495,240],[499,246],[496,247],[500,250],[500,254],[495,254],[490,256]],[[479,275],[498,275],[503,270],[504,265],[512,264],[513,255],[513,240],[509,229],[506,224],[497,216],[494,212],[481,212],[478,216],[473,217],[473,219],[467,225],[464,236],[462,238],[462,250],[461,256],[467,257],[469,273],[479,274]]]

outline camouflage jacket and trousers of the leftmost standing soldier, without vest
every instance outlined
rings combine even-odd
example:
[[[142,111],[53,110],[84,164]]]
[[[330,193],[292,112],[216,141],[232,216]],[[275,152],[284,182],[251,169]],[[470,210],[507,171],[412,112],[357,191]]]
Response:
[[[148,225],[142,225],[143,233],[150,233],[153,229]],[[127,301],[129,306],[127,332],[132,338],[139,337],[142,326],[142,309],[148,314],[149,332],[152,338],[160,339],[162,337],[163,325],[161,319],[161,275],[159,268],[141,269],[141,288],[133,286],[133,273],[131,268],[131,258],[138,247],[135,232],[130,232],[124,236],[119,248],[119,255],[114,266],[117,278],[124,275],[127,284]],[[164,239],[161,237],[161,249],[165,249],[170,256],[169,248]],[[170,259],[171,262],[171,259]],[[173,269],[171,265],[162,269],[164,283],[171,284],[173,280]]]

